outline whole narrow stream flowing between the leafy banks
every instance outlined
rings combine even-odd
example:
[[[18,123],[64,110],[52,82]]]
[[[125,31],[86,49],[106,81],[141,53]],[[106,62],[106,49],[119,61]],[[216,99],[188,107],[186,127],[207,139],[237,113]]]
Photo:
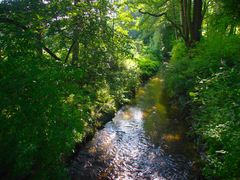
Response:
[[[196,179],[193,145],[184,123],[169,118],[163,84],[152,78],[134,106],[95,134],[73,161],[72,179]]]

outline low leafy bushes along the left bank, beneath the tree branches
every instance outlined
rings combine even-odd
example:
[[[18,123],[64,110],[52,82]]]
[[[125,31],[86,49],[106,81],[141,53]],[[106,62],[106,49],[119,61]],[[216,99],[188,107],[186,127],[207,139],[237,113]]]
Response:
[[[0,176],[67,178],[76,143],[139,85],[138,72],[125,66],[94,84],[84,73],[30,54],[0,61]]]

